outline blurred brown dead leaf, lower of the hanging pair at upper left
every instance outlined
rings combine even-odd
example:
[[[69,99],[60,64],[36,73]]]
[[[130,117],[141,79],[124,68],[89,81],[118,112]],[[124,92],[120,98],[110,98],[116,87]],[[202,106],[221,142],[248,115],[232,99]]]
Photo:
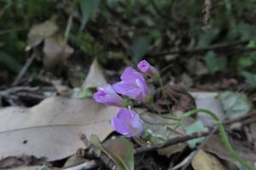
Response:
[[[67,45],[59,33],[44,40],[44,67],[52,69],[55,65],[66,61],[73,54],[73,48]]]

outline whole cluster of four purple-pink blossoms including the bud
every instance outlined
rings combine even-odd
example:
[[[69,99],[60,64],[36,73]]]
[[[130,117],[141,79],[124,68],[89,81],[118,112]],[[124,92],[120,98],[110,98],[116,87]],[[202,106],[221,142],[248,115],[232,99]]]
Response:
[[[138,69],[149,77],[157,74],[156,69],[146,60],[137,65]],[[113,85],[107,84],[97,88],[93,98],[104,105],[123,107],[124,99],[119,95],[128,96],[131,99],[143,100],[148,96],[148,85],[143,75],[131,67],[127,67],[120,77],[121,81]],[[131,108],[119,108],[111,120],[113,129],[125,136],[139,136],[143,133],[143,125],[140,116]]]

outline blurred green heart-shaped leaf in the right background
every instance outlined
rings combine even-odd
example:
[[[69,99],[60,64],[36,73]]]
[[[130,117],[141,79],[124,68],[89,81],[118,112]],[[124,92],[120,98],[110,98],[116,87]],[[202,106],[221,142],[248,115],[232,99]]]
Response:
[[[224,70],[227,65],[225,57],[217,57],[212,51],[208,52],[205,56],[208,70],[214,74],[216,71]]]

